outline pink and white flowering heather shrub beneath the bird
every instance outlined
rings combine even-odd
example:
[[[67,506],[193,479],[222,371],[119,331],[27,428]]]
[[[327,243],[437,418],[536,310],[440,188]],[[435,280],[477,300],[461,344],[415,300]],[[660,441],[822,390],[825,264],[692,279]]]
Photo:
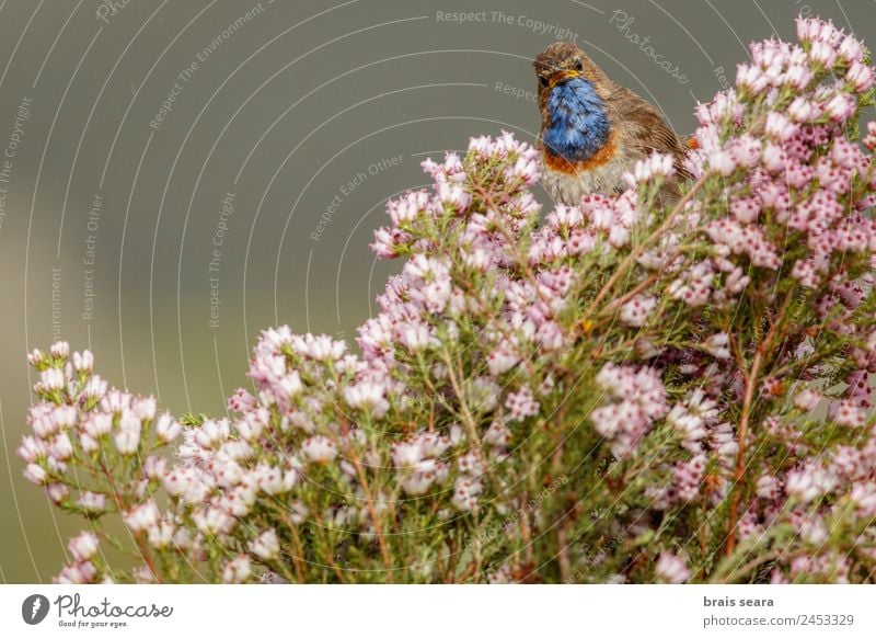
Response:
[[[678,202],[658,155],[545,215],[507,133],[427,160],[356,351],[264,331],[231,418],[34,351],[25,475],[85,523],[57,580],[873,582],[873,71],[798,39],[698,106]]]

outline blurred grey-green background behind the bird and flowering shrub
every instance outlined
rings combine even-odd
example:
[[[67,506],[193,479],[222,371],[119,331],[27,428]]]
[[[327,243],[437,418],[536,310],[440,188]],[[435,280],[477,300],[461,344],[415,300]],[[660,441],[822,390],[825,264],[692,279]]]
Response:
[[[48,581],[76,529],[14,455],[28,350],[221,413],[261,329],[355,337],[399,267],[371,232],[426,156],[533,139],[548,44],[687,134],[798,13],[876,24],[851,0],[0,0],[0,582]]]

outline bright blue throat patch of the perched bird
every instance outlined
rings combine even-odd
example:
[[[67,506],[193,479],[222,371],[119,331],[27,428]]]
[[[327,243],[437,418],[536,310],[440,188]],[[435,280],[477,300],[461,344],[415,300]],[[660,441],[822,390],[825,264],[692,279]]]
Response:
[[[569,162],[591,158],[611,133],[602,99],[593,86],[573,78],[557,84],[548,98],[551,125],[544,129],[544,149]]]

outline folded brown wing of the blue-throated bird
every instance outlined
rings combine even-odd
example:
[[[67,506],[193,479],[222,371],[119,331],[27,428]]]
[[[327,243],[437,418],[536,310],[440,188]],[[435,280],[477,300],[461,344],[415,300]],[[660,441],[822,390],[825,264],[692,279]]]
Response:
[[[623,130],[631,146],[644,155],[653,151],[670,153],[675,157],[676,173],[679,179],[691,176],[684,168],[688,147],[652,104],[631,90],[616,86],[611,92],[610,112],[616,117],[615,125]]]

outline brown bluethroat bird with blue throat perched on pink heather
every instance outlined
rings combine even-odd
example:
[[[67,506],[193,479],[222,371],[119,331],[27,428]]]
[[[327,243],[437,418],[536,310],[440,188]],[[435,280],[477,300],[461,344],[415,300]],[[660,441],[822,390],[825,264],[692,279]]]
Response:
[[[542,185],[562,204],[580,203],[590,193],[626,187],[623,175],[652,152],[675,158],[675,180],[689,178],[689,148],[655,106],[611,81],[585,53],[557,42],[535,57],[542,153]],[[665,198],[678,197],[667,182]]]

